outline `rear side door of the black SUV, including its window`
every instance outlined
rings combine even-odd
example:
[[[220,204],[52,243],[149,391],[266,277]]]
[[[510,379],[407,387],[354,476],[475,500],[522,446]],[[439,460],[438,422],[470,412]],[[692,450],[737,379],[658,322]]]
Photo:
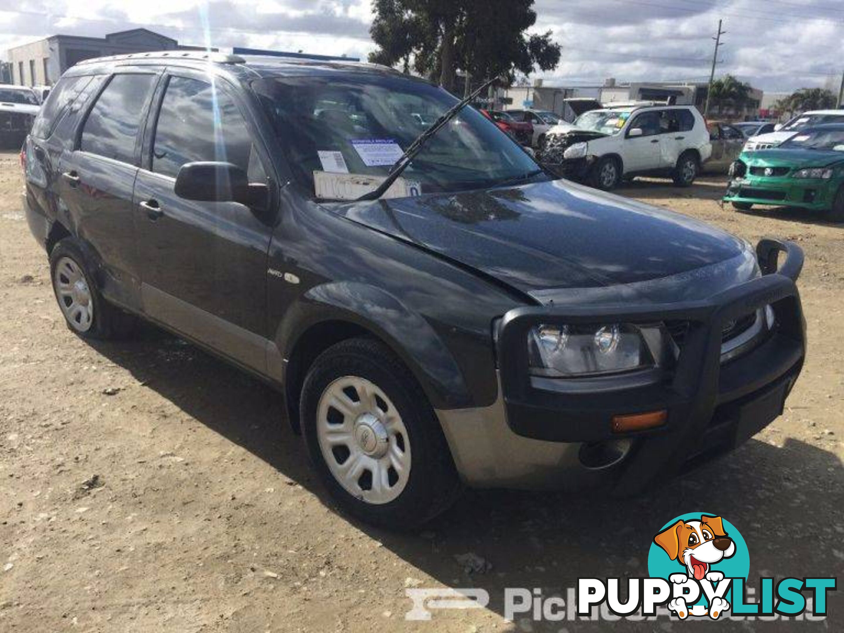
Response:
[[[133,309],[139,305],[132,203],[138,138],[159,76],[127,69],[107,78],[58,166],[58,197],[99,259],[103,295]]]

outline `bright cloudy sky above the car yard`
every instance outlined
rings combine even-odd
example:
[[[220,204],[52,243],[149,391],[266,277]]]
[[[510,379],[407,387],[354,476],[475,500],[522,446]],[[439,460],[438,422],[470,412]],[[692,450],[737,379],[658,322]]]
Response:
[[[768,92],[837,91],[844,72],[841,0],[537,0],[533,30],[552,31],[560,66],[547,85],[704,81],[718,19],[717,74]],[[365,58],[370,0],[0,0],[0,55],[56,33],[145,27],[182,44],[271,48]]]

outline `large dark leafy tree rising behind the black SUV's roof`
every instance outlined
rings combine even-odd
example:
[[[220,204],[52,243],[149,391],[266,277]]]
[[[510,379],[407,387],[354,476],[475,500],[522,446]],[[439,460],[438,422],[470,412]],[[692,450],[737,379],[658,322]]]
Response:
[[[475,78],[552,70],[560,45],[551,32],[528,35],[533,0],[373,0],[370,61],[416,72],[455,89],[457,70]]]

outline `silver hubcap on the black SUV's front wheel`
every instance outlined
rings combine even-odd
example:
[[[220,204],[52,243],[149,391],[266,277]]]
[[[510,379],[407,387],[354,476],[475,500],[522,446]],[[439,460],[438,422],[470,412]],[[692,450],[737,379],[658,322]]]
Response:
[[[365,378],[344,376],[322,392],[317,441],[334,479],[360,500],[389,503],[408,483],[408,430],[390,398]]]

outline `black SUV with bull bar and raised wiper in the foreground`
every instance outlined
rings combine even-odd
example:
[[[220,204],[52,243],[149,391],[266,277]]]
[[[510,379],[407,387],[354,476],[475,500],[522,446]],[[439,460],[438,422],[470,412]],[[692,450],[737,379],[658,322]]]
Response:
[[[456,103],[366,64],[79,63],[24,148],[68,326],[140,317],[278,387],[327,488],[391,526],[462,484],[629,493],[782,412],[797,246],[555,180]]]

